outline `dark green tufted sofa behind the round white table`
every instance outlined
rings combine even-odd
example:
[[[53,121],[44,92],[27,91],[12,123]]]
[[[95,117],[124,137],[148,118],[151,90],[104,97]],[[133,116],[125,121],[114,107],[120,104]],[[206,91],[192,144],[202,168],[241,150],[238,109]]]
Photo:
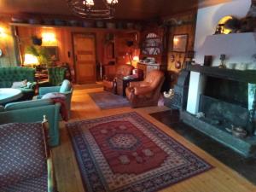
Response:
[[[14,82],[27,80],[29,87],[19,88],[23,96],[20,100],[31,100],[35,94],[35,69],[29,67],[0,67],[0,88],[10,88]]]

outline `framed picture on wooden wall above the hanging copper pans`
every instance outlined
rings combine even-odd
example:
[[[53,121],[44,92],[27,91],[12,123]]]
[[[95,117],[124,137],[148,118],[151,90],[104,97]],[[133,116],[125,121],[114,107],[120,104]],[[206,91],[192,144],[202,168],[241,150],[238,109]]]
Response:
[[[172,40],[172,51],[173,52],[186,52],[187,44],[188,44],[188,35],[181,34],[181,35],[174,35]]]

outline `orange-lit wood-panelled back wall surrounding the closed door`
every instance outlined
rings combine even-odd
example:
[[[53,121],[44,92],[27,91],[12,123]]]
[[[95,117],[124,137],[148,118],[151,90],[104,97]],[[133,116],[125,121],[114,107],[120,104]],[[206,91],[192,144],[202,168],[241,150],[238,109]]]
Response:
[[[96,36],[96,64],[108,65],[108,59],[106,55],[108,33],[113,33],[114,36],[114,58],[116,63],[127,63],[129,57],[126,53],[133,52],[136,48],[136,34],[139,37],[137,31],[119,31],[108,29],[96,29],[96,28],[81,28],[81,27],[43,27],[43,26],[15,26],[17,28],[20,38],[20,50],[21,55],[24,57],[26,47],[32,45],[32,36],[42,37],[42,34],[53,33],[55,34],[56,42],[51,44],[57,46],[59,49],[59,61],[56,61],[56,65],[61,65],[63,62],[67,62],[71,67],[74,67],[74,55],[73,55],[73,35],[78,33],[90,33]],[[132,40],[134,46],[128,47],[126,42]],[[137,38],[137,42],[139,39]],[[43,41],[43,45],[44,41]],[[46,44],[47,45],[47,44]]]

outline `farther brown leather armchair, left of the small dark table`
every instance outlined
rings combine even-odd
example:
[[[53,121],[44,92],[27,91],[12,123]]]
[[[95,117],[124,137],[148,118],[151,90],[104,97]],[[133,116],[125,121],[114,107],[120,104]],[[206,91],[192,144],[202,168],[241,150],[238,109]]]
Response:
[[[131,65],[127,65],[127,64],[117,65],[116,72],[113,76],[108,75],[108,76],[104,77],[104,79],[103,79],[104,90],[109,90],[109,91],[113,92],[114,94],[116,94],[117,78],[122,79],[125,76],[131,75],[133,68],[134,67],[132,67]]]

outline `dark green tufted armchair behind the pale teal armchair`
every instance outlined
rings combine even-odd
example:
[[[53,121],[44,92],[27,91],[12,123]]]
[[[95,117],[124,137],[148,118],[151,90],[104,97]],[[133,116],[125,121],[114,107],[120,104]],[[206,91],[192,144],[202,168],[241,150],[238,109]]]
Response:
[[[59,86],[66,77],[67,68],[64,67],[49,67],[48,81],[40,82],[40,87]]]

